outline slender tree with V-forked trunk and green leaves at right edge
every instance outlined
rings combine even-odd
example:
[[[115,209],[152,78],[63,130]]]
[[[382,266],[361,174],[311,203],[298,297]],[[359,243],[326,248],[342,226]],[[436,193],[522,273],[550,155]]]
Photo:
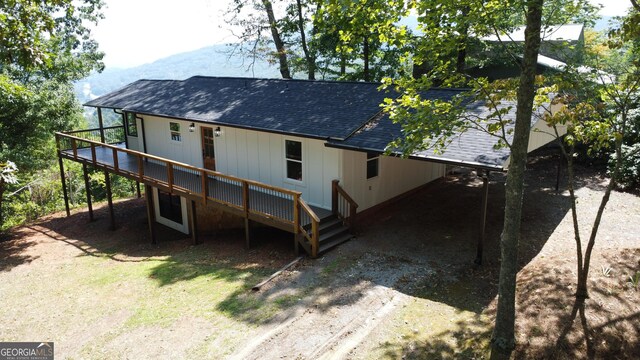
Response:
[[[556,84],[553,93],[559,94],[553,102],[562,104],[562,109],[555,113],[547,112],[546,121],[554,127],[554,135],[558,137],[561,134],[559,126],[568,128],[568,135],[561,139],[560,144],[568,164],[568,190],[576,242],[576,300],[579,303],[589,297],[587,280],[591,256],[606,205],[620,179],[622,165],[627,157],[640,151],[637,143],[632,150],[623,151],[628,138],[632,142],[638,141],[636,136],[630,135],[640,129],[640,124],[633,123],[638,120],[633,112],[640,107],[640,41],[635,36],[640,34],[640,25],[635,21],[640,19],[640,7],[634,2],[632,5],[634,7],[622,19],[620,26],[609,32],[606,44],[589,44],[586,61],[592,71],[568,66],[552,79]],[[609,183],[586,244],[583,243],[575,195],[574,158],[578,144],[586,146],[590,153],[612,152]]]

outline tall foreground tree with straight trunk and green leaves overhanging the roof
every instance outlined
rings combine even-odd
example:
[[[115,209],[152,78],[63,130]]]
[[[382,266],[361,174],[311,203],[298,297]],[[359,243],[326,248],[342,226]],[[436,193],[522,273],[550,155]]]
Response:
[[[418,149],[434,147],[436,151],[448,144],[453,134],[474,128],[498,136],[499,143],[511,149],[511,162],[505,188],[505,221],[501,234],[501,264],[496,326],[492,338],[491,357],[506,359],[515,347],[515,294],[518,271],[518,240],[523,201],[524,170],[527,160],[528,136],[536,91],[535,80],[537,54],[541,42],[543,24],[562,24],[570,19],[591,16],[593,7],[578,7],[566,0],[521,1],[420,1],[417,2],[419,28],[422,38],[414,45],[414,63],[427,65],[427,73],[417,79],[385,80],[387,87],[400,89],[397,99],[387,99],[385,108],[394,121],[403,126],[404,138],[389,144],[390,150],[402,150],[410,154]],[[543,6],[544,4],[544,6]],[[524,12],[523,12],[524,10]],[[566,10],[562,11],[562,10]],[[517,48],[512,61],[520,67],[518,80],[489,82],[487,79],[469,79],[461,74],[468,38],[466,34],[481,36],[493,33],[509,42],[505,33],[522,22],[526,24],[525,41]],[[515,55],[521,55],[517,61]],[[421,89],[433,85],[473,87],[467,97],[483,101],[491,115],[484,121],[465,117],[466,100],[421,99]],[[516,106],[515,122],[502,115],[512,105]],[[467,99],[468,100],[468,99]],[[506,126],[514,126],[507,130]],[[513,132],[513,139],[504,136]]]

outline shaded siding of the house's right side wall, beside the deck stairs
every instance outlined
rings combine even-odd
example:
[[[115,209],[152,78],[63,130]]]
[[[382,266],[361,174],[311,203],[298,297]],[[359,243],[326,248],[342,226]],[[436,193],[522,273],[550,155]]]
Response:
[[[441,178],[445,172],[443,164],[380,156],[378,176],[367,179],[367,153],[344,150],[340,183],[360,212]]]

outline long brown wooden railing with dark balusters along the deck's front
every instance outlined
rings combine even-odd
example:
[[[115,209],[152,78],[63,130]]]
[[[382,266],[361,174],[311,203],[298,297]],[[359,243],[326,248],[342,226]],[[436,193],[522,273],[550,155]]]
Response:
[[[188,195],[205,204],[212,201],[226,205],[252,220],[278,223],[305,237],[311,245],[312,256],[317,255],[320,219],[300,198],[300,192],[101,143],[93,139],[93,131],[56,133],[59,156],[90,163],[142,183],[162,186],[171,193]],[[79,155],[87,149],[90,149],[90,156]],[[108,156],[99,156],[105,152]],[[304,229],[307,224],[311,224],[311,231]]]

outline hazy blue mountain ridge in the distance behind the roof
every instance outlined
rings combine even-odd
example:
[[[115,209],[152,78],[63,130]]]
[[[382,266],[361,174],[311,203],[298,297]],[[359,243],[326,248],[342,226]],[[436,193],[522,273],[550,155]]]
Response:
[[[229,55],[230,50],[228,45],[213,45],[133,68],[106,69],[78,81],[75,84],[76,95],[81,103],[85,103],[139,79],[182,80],[195,75],[259,78],[280,76],[278,67],[265,60],[256,60],[252,70],[248,70],[250,59]]]

